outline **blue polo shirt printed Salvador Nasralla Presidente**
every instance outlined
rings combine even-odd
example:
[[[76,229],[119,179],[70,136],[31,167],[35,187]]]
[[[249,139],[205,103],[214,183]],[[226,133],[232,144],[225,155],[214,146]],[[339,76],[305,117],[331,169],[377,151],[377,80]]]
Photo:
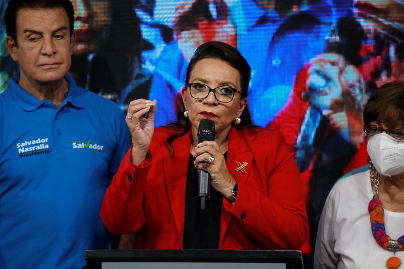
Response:
[[[0,268],[82,268],[108,248],[99,209],[130,147],[118,106],[77,87],[56,109],[12,78],[0,94]]]

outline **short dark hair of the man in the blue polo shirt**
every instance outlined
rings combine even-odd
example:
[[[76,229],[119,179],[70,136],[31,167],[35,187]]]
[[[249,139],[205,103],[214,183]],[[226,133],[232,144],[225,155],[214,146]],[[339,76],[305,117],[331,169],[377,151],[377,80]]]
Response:
[[[74,9],[69,0],[10,0],[4,15],[7,35],[11,36],[17,45],[17,13],[20,9],[51,9],[59,7],[62,7],[66,11],[71,36],[74,30]]]

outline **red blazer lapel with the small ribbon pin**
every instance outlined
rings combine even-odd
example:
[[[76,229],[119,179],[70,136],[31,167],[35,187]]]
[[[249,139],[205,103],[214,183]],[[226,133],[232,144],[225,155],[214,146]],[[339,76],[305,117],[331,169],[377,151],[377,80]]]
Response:
[[[244,138],[242,131],[238,131],[234,127],[231,128],[229,133],[226,165],[231,176],[237,181],[237,183],[245,183],[247,181],[247,177],[252,165],[252,152],[248,147],[246,139],[248,138]],[[246,165],[242,168],[243,170],[239,169],[236,171],[237,168],[240,168],[240,166],[245,163]],[[225,197],[223,197],[222,219],[220,224],[220,244],[223,242],[224,235],[231,220],[231,216],[226,209],[226,207],[230,206],[231,204]]]

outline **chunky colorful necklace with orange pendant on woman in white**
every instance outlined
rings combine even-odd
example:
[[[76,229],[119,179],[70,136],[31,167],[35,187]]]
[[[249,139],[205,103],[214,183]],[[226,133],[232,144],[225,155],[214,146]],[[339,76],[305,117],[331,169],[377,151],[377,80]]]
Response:
[[[386,261],[386,267],[389,269],[397,269],[401,266],[402,262],[400,258],[395,256],[395,252],[404,250],[404,235],[394,240],[386,234],[386,228],[384,227],[384,208],[379,199],[379,179],[379,173],[372,166],[372,162],[370,162],[370,180],[375,186],[373,199],[370,200],[368,206],[372,234],[379,246],[393,252],[393,256]]]

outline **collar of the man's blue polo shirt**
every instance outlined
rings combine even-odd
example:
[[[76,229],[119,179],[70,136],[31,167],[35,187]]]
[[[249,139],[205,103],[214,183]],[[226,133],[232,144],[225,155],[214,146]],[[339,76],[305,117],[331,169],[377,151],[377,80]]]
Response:
[[[76,82],[69,75],[66,75],[65,79],[69,82],[69,91],[65,100],[63,100],[61,107],[67,103],[71,103],[73,106],[79,109],[83,109],[84,103],[82,100],[82,96],[80,96],[82,93],[77,87]],[[20,77],[11,78],[9,80],[8,91],[10,91],[10,93],[15,97],[17,103],[22,107],[24,111],[34,111],[38,109],[38,107],[41,106],[46,100],[40,100],[21,88],[20,85],[18,85],[19,81]]]

